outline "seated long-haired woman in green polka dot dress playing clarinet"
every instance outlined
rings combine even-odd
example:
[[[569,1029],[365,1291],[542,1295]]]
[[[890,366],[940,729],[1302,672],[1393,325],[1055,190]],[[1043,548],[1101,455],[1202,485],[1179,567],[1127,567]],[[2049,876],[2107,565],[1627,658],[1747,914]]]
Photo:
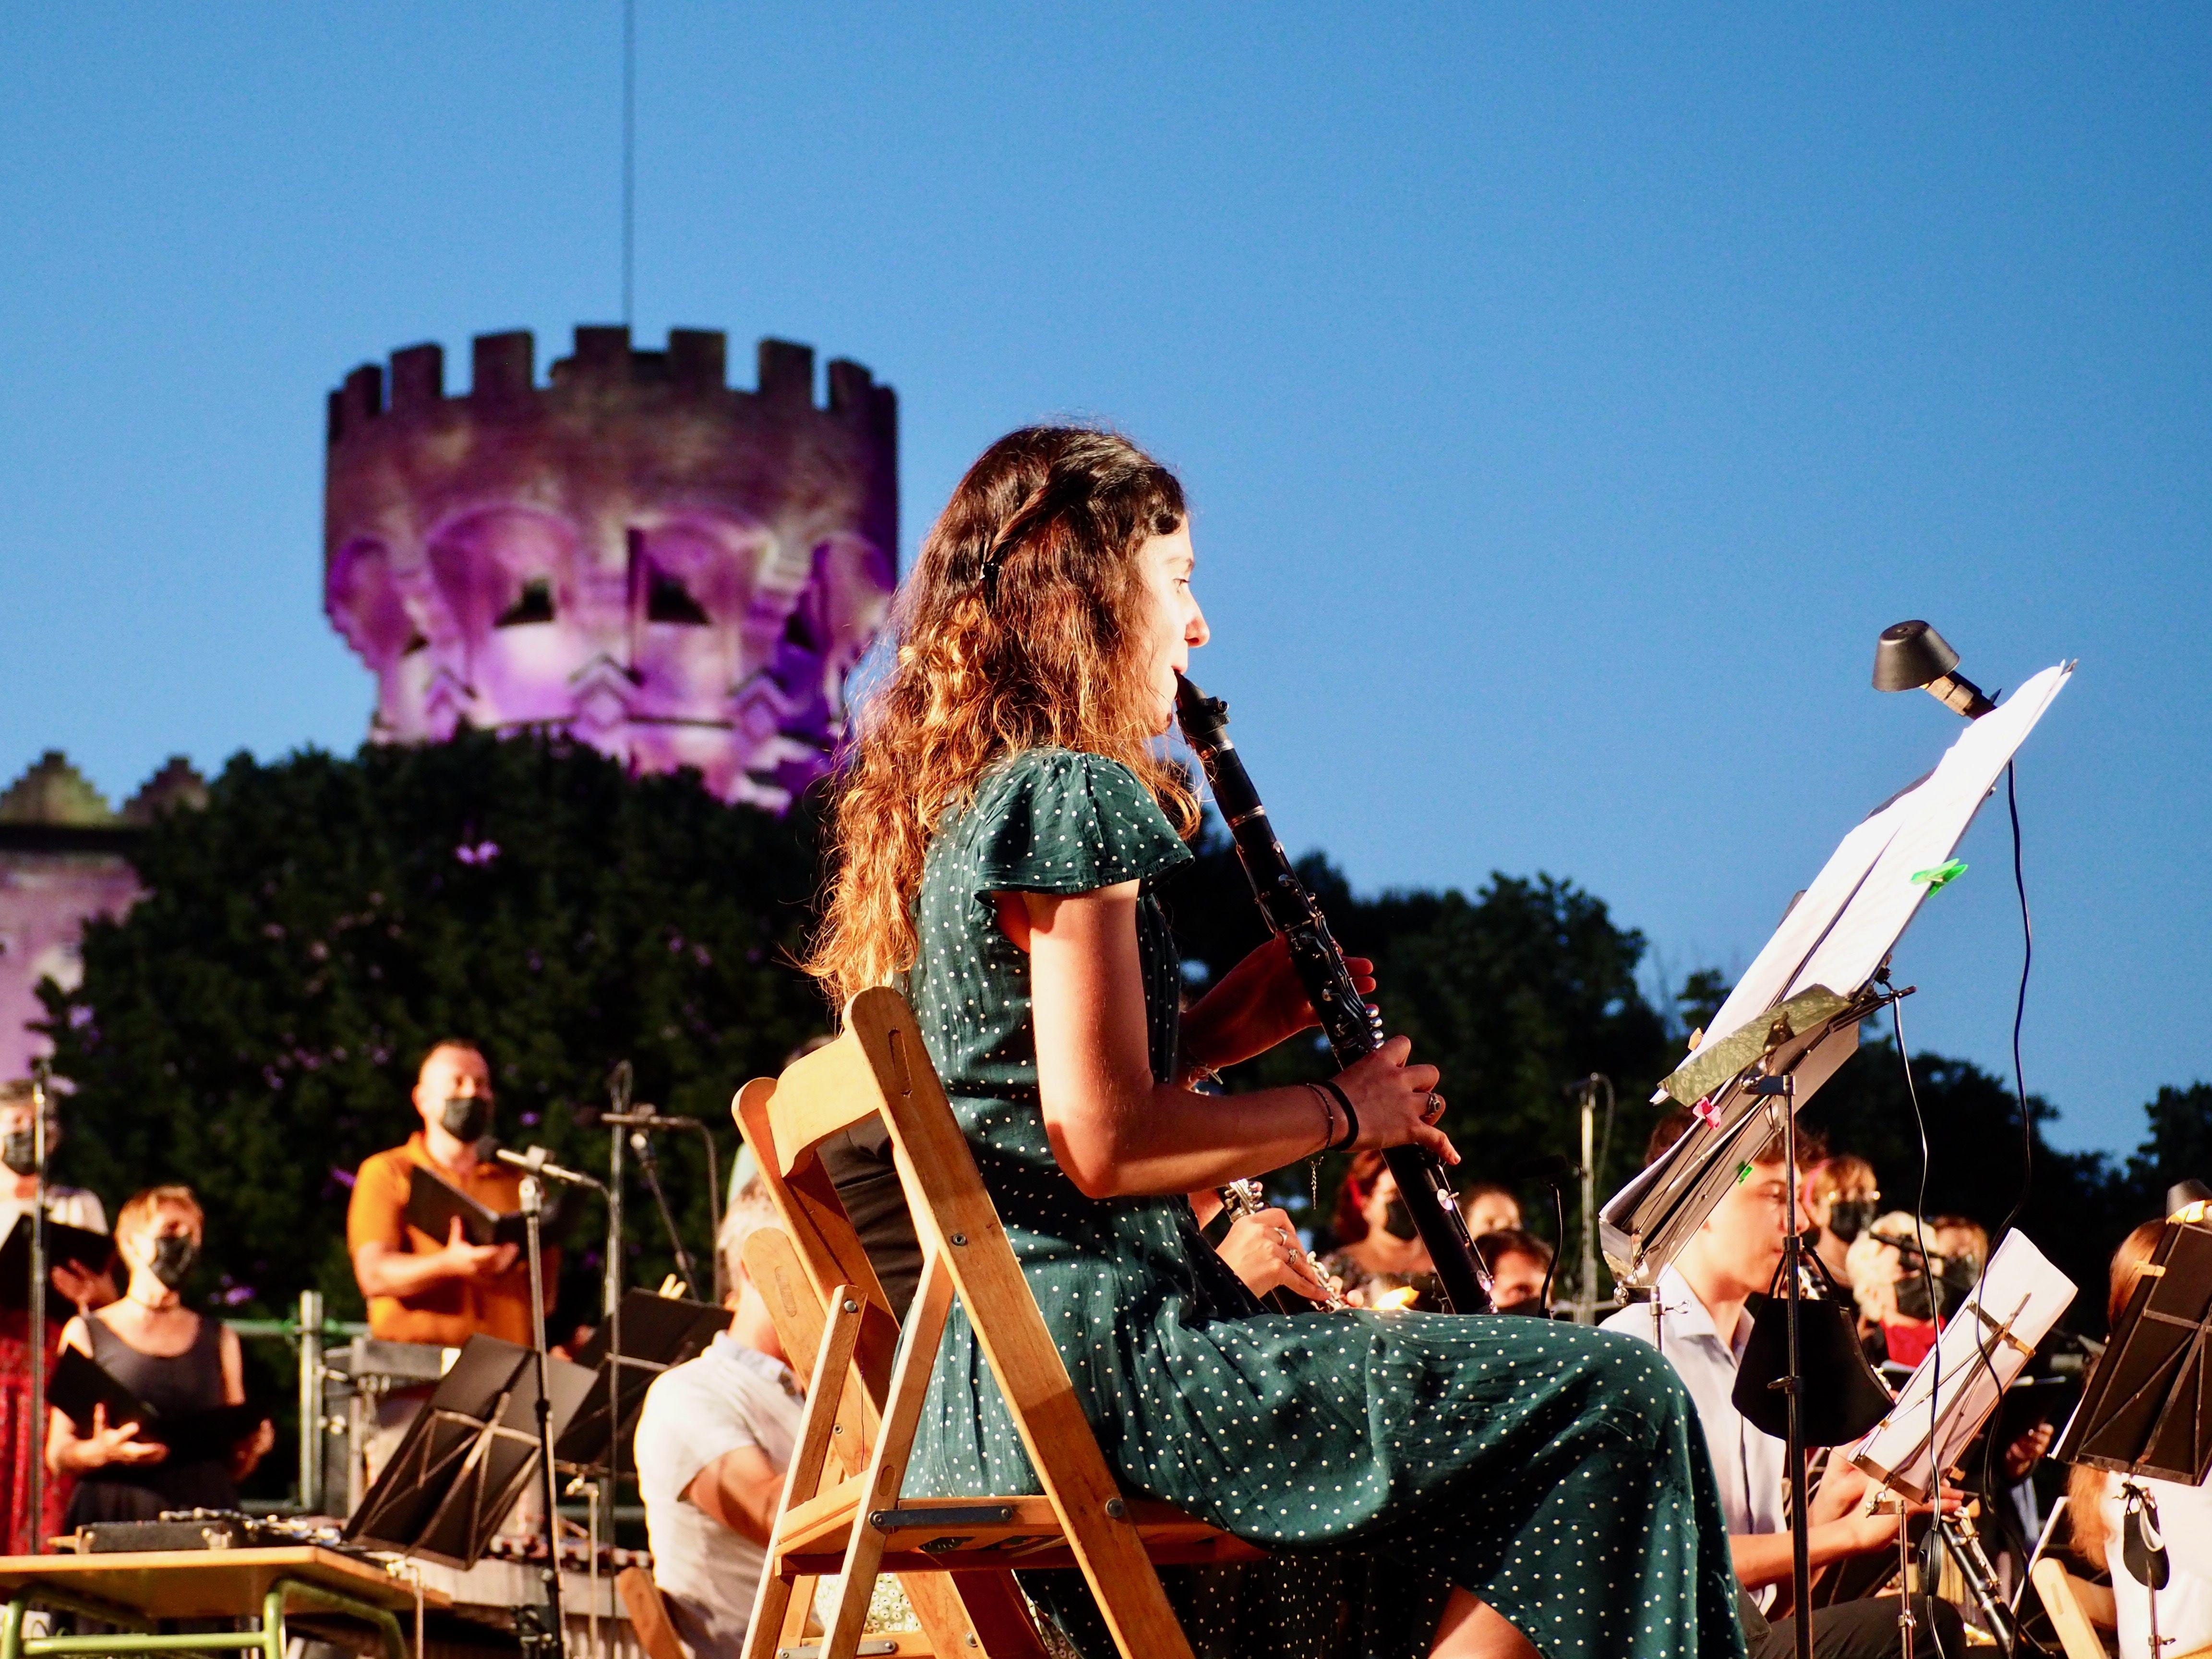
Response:
[[[1314,1024],[1281,945],[1179,1013],[1150,885],[1199,823],[1155,750],[1208,637],[1190,566],[1181,487],[1124,438],[1029,429],[969,469],[836,781],[814,971],[838,1000],[905,987],[1124,1486],[1279,1546],[1164,1575],[1199,1646],[1741,1652],[1712,1467],[1648,1347],[1531,1318],[1272,1314],[1199,1239],[1192,1190],[1321,1148],[1455,1152],[1405,1037],[1340,1095],[1183,1088]],[[1035,1491],[960,1316],[907,1484]],[[1110,1652],[1071,1577],[1024,1588]]]

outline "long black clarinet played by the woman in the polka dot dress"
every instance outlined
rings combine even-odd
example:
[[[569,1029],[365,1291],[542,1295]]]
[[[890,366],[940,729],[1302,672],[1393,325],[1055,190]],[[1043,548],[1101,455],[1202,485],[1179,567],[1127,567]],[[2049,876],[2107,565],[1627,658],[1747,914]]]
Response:
[[[1298,872],[1290,867],[1290,854],[1267,823],[1267,807],[1261,805],[1259,790],[1252,787],[1243,759],[1230,743],[1230,706],[1177,675],[1175,717],[1181,721],[1183,741],[1197,750],[1206,768],[1214,805],[1221,807],[1221,818],[1237,841],[1237,860],[1252,883],[1261,916],[1290,942],[1290,962],[1305,984],[1314,1013],[1321,1015],[1321,1031],[1338,1068],[1371,1055],[1383,1046],[1383,1018],[1360,998],[1321,905],[1305,891]],[[1455,1314],[1491,1312],[1491,1274],[1467,1232],[1467,1219],[1444,1175],[1444,1159],[1425,1146],[1391,1146],[1383,1152],[1383,1161],[1413,1212],[1413,1225],[1442,1281],[1447,1307]]]

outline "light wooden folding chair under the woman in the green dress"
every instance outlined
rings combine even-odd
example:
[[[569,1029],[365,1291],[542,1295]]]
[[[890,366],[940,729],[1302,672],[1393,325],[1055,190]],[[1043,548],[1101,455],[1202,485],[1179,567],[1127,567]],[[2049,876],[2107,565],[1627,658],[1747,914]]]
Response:
[[[759,1252],[748,1245],[748,1272],[772,1314],[794,1321],[801,1345],[787,1343],[785,1352],[814,1354],[743,1659],[774,1659],[794,1646],[812,1582],[825,1573],[843,1573],[843,1582],[823,1615],[818,1655],[852,1659],[885,1571],[900,1575],[925,1628],[933,1624],[925,1601],[942,1613],[942,1597],[958,1593],[969,1626],[962,1652],[1040,1659],[1042,1644],[1013,1588],[1015,1566],[1082,1568],[1126,1659],[1190,1655],[1155,1564],[1248,1562],[1263,1553],[1172,1504],[1121,1495],[905,1000],[863,991],[845,1009],[845,1035],[779,1079],[745,1084],[732,1115],[787,1234],[757,1234],[763,1243]],[[902,1340],[816,1150],[869,1117],[889,1130],[922,1245]],[[792,1254],[779,1261],[781,1248]],[[953,1296],[1006,1396],[1042,1493],[942,1498],[902,1489]],[[821,1338],[807,1347],[812,1321]],[[832,1464],[841,1478],[825,1480]],[[931,1637],[945,1641],[936,1628]],[[945,1646],[938,1652],[951,1659]]]

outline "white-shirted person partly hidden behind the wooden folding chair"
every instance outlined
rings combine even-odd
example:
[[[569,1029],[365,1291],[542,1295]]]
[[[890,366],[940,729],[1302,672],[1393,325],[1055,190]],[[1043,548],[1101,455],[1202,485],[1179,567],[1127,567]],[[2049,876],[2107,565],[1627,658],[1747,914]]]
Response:
[[[774,1225],[759,1181],[730,1201],[714,1248],[730,1329],[653,1380],[637,1418],[653,1582],[692,1659],[737,1659],[752,1619],[768,1528],[799,1436],[801,1385],[739,1252]]]

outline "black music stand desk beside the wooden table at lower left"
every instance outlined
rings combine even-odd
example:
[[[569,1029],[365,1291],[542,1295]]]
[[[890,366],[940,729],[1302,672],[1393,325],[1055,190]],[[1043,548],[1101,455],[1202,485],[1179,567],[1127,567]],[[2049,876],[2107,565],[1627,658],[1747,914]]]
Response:
[[[566,1429],[593,1374],[551,1360],[546,1378]],[[538,1360],[520,1343],[471,1336],[345,1522],[345,1542],[469,1571],[538,1469]]]

